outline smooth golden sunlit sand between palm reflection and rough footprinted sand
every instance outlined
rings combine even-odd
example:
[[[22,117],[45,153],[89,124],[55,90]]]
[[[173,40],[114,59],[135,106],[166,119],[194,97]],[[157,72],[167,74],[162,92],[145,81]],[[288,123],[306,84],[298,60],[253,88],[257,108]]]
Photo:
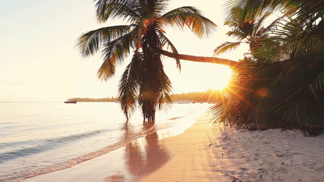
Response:
[[[229,160],[217,134],[205,115],[199,117],[183,133],[162,141],[172,159],[136,181],[232,181],[231,176],[219,172]]]

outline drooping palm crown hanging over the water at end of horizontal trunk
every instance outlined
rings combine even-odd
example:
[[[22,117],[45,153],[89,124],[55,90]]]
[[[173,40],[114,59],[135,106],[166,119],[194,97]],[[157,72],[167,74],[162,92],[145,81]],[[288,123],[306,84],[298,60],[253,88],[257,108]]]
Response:
[[[101,51],[103,63],[98,77],[108,80],[115,74],[115,67],[133,54],[131,62],[121,75],[118,98],[121,109],[128,118],[136,109],[142,109],[144,121],[155,119],[155,110],[171,105],[171,81],[164,72],[161,54],[176,54],[177,49],[168,39],[166,26],[181,30],[189,28],[198,37],[209,36],[216,24],[205,18],[194,7],[181,7],[166,12],[168,1],[154,0],[95,0],[97,21],[122,19],[128,25],[108,26],[83,33],[76,47],[83,57]],[[162,50],[170,49],[172,52]],[[200,59],[201,60],[201,59]],[[221,59],[218,59],[221,60]],[[180,59],[176,58],[180,69]]]

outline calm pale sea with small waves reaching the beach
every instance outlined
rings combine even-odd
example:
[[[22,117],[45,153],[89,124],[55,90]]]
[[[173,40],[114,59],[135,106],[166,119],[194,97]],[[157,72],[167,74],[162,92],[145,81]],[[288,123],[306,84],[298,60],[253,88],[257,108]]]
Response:
[[[158,130],[189,127],[210,106],[174,104],[144,123],[139,109],[127,122],[116,103],[0,102],[0,181],[68,168]]]

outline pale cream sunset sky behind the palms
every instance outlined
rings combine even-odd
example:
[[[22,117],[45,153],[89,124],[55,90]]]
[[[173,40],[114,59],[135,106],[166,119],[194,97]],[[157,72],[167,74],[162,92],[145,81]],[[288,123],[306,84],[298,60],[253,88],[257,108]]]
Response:
[[[194,6],[218,25],[208,38],[199,39],[189,30],[167,28],[166,35],[180,54],[212,57],[225,41],[221,0],[173,0],[169,10]],[[1,0],[0,1],[0,102],[60,102],[69,98],[117,96],[121,73],[129,63],[117,67],[114,78],[101,81],[97,70],[100,53],[82,58],[75,42],[82,33],[122,22],[98,24],[93,0]],[[237,61],[247,47],[220,55]],[[227,66],[181,60],[181,72],[174,59],[164,58],[165,71],[173,93],[203,92],[218,88],[228,80]]]

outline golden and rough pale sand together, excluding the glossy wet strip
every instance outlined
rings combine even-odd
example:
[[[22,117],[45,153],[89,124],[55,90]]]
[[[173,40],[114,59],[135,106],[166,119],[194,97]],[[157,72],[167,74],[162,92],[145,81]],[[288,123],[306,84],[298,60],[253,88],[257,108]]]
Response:
[[[201,117],[164,144],[174,159],[138,181],[324,181],[322,134],[211,127]]]

